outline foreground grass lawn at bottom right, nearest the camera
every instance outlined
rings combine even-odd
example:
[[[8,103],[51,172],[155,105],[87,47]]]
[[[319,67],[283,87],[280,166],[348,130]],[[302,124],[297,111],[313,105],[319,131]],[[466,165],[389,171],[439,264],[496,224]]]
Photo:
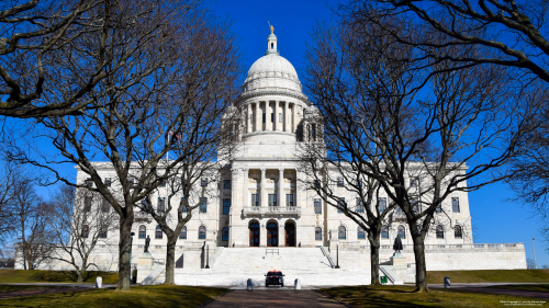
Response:
[[[354,307],[503,307],[502,301],[542,300],[533,297],[430,289],[413,293],[411,286],[352,286],[321,289]],[[544,304],[545,306],[547,304]]]

